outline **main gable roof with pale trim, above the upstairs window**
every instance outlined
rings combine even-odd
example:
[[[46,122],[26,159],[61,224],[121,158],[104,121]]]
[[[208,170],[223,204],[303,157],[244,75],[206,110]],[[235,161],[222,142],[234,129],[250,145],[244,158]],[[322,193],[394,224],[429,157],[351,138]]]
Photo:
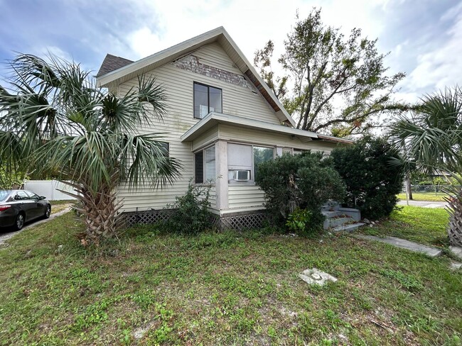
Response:
[[[263,81],[262,77],[260,77],[257,71],[255,71],[244,53],[242,53],[240,48],[237,47],[236,43],[222,26],[198,35],[195,38],[190,38],[182,43],[178,43],[178,45],[173,45],[171,48],[167,48],[166,50],[156,52],[153,55],[149,55],[149,57],[144,57],[136,62],[130,62],[127,65],[117,67],[117,69],[109,70],[109,67],[114,67],[115,64],[121,62],[121,60],[114,60],[112,58],[114,55],[110,55],[110,57],[107,55],[106,59],[109,57],[109,60],[106,64],[104,64],[106,61],[106,59],[104,59],[100,71],[97,74],[97,82],[100,86],[115,86],[117,84],[127,82],[129,79],[138,77],[141,73],[149,72],[156,67],[160,67],[172,60],[176,60],[179,57],[197,50],[203,45],[213,42],[220,43],[223,50],[225,50],[227,55],[229,55],[230,59],[235,62],[237,68],[247,76],[247,78],[259,90],[260,94],[262,94],[264,99],[267,100],[269,105],[274,109],[277,118],[279,118],[281,122],[290,123],[292,126],[296,127],[294,119],[291,118],[289,113],[287,113],[279,102],[279,99],[276,98],[267,84]],[[129,62],[130,60],[127,61]],[[102,74],[100,74],[100,72],[102,72]]]

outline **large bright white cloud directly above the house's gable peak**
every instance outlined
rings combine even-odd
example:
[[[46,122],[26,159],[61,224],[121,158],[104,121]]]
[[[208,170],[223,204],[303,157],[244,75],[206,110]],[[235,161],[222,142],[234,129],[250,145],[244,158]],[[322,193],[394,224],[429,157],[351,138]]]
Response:
[[[128,33],[127,42],[139,58],[188,40],[205,31],[224,26],[252,61],[255,50],[262,48],[267,40],[276,45],[275,55],[283,52],[283,41],[295,23],[297,9],[305,18],[313,6],[322,7],[324,23],[341,27],[347,34],[352,28],[362,28],[369,38],[376,38],[385,28],[380,13],[387,0],[316,0],[309,4],[302,0],[281,1],[164,1],[139,0],[144,13],[156,13],[157,21],[146,23]],[[352,21],[353,18],[353,21]],[[151,47],[152,45],[152,47]]]

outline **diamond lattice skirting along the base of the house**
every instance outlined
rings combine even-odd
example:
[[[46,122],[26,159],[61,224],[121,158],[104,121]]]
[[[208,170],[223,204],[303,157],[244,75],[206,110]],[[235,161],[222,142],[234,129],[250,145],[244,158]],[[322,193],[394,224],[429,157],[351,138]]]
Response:
[[[122,213],[122,220],[127,227],[136,224],[149,224],[165,221],[173,212],[172,209],[153,211],[138,211]],[[269,220],[266,211],[252,211],[226,214],[224,216],[214,215],[211,223],[220,230],[245,230],[249,228],[261,228],[264,221]]]

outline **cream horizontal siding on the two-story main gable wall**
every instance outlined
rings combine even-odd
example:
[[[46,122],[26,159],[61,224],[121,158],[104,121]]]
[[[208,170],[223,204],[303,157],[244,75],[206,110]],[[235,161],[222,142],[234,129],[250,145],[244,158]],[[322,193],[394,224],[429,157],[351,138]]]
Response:
[[[233,73],[240,73],[233,66],[232,61],[220,45],[214,43],[205,45],[203,48],[192,53],[200,58],[200,62],[213,65],[220,69],[226,69]],[[251,89],[222,82],[218,79],[180,69],[171,63],[163,65],[151,72],[156,81],[166,89],[168,96],[168,113],[163,122],[153,119],[151,125],[143,125],[139,133],[166,133],[162,140],[170,143],[170,155],[181,160],[183,164],[183,176],[173,186],[165,186],[162,189],[152,189],[150,186],[139,186],[136,191],[120,186],[118,198],[124,200],[121,211],[161,209],[167,203],[173,203],[175,196],[186,192],[189,179],[193,177],[193,152],[191,143],[181,143],[180,137],[192,125],[198,122],[193,118],[193,82],[200,82],[222,89],[223,113],[237,116],[245,116],[268,123],[279,123],[272,108],[260,94],[255,94]],[[126,94],[131,87],[136,87],[137,79],[131,79],[119,85],[119,94]],[[210,131],[205,140],[215,139],[215,134]],[[201,144],[205,141],[199,141]]]

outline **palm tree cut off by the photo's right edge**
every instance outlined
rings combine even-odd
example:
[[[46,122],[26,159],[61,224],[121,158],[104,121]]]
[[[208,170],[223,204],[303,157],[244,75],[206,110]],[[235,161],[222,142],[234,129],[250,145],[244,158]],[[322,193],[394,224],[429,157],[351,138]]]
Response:
[[[446,189],[448,236],[462,246],[462,89],[456,86],[426,95],[410,118],[400,116],[391,125],[396,145],[406,147],[407,167],[426,174],[447,172],[457,185]]]

